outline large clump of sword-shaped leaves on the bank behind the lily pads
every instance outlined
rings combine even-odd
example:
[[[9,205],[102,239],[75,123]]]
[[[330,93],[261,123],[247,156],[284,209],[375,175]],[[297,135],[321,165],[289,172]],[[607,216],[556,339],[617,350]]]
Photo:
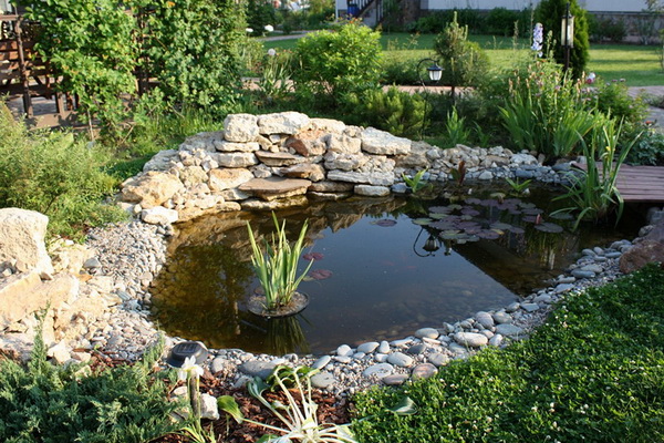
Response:
[[[517,72],[509,94],[500,115],[517,150],[535,150],[548,159],[570,155],[595,124],[582,83],[552,63],[538,61]]]

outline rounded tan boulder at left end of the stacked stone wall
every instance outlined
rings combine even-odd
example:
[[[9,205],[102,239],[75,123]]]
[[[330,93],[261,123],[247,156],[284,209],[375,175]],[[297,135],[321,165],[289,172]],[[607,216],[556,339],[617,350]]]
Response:
[[[124,202],[139,203],[144,209],[160,206],[185,185],[176,176],[151,171],[132,181],[125,182],[122,189]]]

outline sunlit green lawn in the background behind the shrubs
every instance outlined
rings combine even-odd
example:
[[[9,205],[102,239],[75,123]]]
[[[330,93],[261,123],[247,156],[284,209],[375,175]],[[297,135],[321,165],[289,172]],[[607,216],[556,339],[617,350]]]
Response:
[[[385,56],[397,60],[418,60],[434,54],[434,34],[416,38],[407,33],[386,33],[381,37]],[[470,35],[487,51],[494,68],[509,68],[515,60],[530,54],[527,39]],[[266,42],[266,49],[293,49],[297,40]],[[664,85],[664,72],[660,65],[656,47],[632,44],[591,44],[588,71],[594,72],[604,81],[625,79],[630,86]]]

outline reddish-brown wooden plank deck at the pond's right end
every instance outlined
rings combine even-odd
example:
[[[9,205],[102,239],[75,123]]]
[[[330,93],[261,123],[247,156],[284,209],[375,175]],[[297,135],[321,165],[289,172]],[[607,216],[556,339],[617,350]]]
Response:
[[[585,165],[574,164],[585,168]],[[664,166],[622,165],[618,173],[618,190],[625,203],[664,202]]]

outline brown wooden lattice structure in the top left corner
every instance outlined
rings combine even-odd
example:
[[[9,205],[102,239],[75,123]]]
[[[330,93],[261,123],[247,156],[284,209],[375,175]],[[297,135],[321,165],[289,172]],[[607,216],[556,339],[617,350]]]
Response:
[[[25,38],[24,19],[20,14],[1,14],[0,94],[20,95],[28,117],[34,115],[32,99],[55,101],[59,116],[64,116],[62,95],[48,63],[34,52],[34,41]]]

